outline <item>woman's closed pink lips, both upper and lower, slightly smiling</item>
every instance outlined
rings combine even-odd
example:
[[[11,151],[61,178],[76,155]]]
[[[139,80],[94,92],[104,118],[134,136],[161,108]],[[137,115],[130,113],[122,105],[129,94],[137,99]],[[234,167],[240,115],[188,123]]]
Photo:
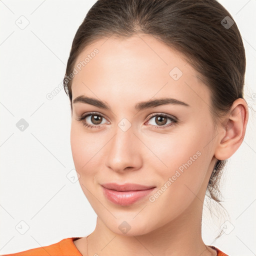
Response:
[[[148,195],[155,186],[145,186],[134,183],[105,183],[101,184],[104,196],[112,203],[130,205]]]

